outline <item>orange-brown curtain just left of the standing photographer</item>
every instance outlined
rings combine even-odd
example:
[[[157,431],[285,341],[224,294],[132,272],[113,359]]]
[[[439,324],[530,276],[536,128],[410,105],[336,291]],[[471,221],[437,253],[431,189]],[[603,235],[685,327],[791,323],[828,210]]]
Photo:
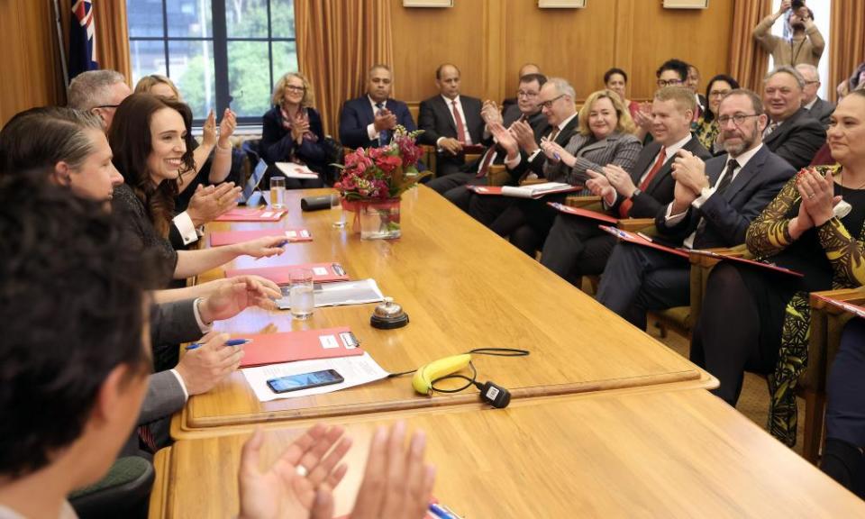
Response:
[[[755,92],[760,92],[763,77],[769,71],[769,54],[760,49],[751,32],[760,20],[771,14],[771,8],[771,0],[736,0],[733,4],[730,75],[743,88]]]

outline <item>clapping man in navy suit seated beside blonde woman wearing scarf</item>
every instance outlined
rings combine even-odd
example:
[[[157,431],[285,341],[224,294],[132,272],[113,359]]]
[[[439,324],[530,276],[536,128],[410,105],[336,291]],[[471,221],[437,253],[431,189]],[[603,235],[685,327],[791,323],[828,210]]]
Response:
[[[393,75],[387,65],[373,65],[367,95],[346,101],[340,114],[340,141],[348,148],[378,148],[390,142],[396,125],[414,132],[412,114],[402,101],[390,98]]]

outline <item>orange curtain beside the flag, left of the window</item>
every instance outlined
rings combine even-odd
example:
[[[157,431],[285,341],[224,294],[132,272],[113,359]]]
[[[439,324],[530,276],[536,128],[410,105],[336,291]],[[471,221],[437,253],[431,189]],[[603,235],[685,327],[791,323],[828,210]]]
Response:
[[[75,0],[58,2],[66,56],[69,55],[69,18],[74,2]],[[99,63],[99,68],[116,70],[126,77],[128,83],[132,83],[126,1],[93,0],[93,16],[96,23],[96,62]]]

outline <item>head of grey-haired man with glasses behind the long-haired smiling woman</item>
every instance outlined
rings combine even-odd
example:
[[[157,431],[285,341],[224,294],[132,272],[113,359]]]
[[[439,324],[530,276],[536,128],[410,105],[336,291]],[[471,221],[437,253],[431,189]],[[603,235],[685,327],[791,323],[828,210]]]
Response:
[[[105,129],[111,127],[114,111],[132,90],[126,78],[116,70],[87,70],[69,84],[68,106],[102,117]]]

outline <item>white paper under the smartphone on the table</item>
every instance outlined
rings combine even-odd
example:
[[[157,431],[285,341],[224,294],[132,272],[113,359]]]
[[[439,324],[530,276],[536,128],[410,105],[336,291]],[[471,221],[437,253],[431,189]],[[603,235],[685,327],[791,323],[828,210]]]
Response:
[[[340,384],[332,384],[331,386],[311,387],[309,389],[301,389],[299,391],[289,391],[287,393],[274,393],[268,387],[268,380],[271,378],[287,377],[289,375],[299,375],[301,373],[312,373],[314,371],[323,371],[325,369],[336,369],[344,382]],[[296,362],[284,362],[282,364],[270,364],[269,366],[259,366],[257,368],[241,369],[246,381],[250,383],[250,387],[255,391],[255,396],[259,397],[261,402],[269,402],[278,400],[279,398],[297,398],[300,396],[323,395],[324,393],[332,393],[346,387],[360,386],[361,384],[369,384],[376,380],[386,378],[388,373],[378,362],[369,356],[369,353],[364,352],[363,355],[355,355],[352,357],[337,357],[334,359],[318,359],[318,360],[298,360]]]

